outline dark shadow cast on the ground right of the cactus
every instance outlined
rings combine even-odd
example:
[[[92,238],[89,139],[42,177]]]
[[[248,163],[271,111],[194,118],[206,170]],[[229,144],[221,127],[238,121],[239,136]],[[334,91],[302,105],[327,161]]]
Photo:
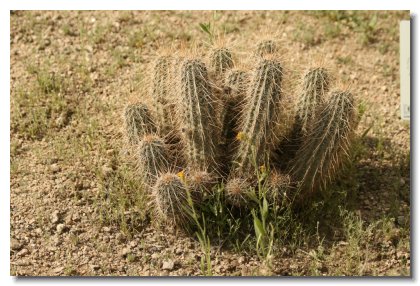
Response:
[[[330,241],[343,239],[343,210],[369,223],[409,216],[410,152],[396,148],[387,138],[373,136],[357,138],[351,151],[354,159],[339,177],[295,209],[305,230],[312,234],[316,230]]]

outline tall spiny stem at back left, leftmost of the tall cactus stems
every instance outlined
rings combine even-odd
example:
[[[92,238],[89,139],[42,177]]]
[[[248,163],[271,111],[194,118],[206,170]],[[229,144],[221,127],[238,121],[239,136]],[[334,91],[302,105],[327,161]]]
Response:
[[[161,134],[172,130],[173,98],[173,59],[170,56],[159,57],[153,66],[152,100],[157,124]]]

